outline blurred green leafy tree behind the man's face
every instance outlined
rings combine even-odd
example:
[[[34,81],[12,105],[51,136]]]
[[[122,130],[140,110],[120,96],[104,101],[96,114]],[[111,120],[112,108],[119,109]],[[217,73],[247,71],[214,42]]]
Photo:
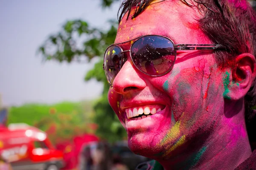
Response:
[[[111,6],[117,0],[102,0],[102,8]],[[108,103],[108,82],[102,69],[103,55],[108,45],[116,37],[117,21],[109,21],[110,28],[101,30],[90,27],[83,20],[67,21],[56,34],[50,35],[39,47],[44,61],[56,60],[58,62],[90,62],[97,58],[99,61],[94,68],[87,72],[85,81],[96,79],[104,84],[102,96],[94,105],[94,121],[99,125],[97,134],[110,142],[123,139],[126,132],[115,116]],[[78,43],[79,42],[79,43]]]

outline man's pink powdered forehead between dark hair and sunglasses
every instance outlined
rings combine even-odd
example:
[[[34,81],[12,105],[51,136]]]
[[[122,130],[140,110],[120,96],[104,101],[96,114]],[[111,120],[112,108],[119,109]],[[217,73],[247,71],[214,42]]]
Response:
[[[153,1],[154,3],[154,1]],[[157,34],[171,38],[174,43],[209,43],[209,38],[201,31],[197,19],[197,9],[186,6],[181,1],[166,0],[149,5],[141,14],[132,19],[127,13],[119,23],[115,43],[125,42],[142,35]]]

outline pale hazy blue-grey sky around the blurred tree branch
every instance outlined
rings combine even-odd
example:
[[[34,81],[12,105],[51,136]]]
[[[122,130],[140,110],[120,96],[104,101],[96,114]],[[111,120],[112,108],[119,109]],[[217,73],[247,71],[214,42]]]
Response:
[[[101,0],[0,0],[0,95],[4,106],[95,99],[102,85],[84,81],[93,63],[42,62],[38,47],[67,20],[106,28],[119,2],[102,10]],[[95,62],[95,61],[94,61]]]

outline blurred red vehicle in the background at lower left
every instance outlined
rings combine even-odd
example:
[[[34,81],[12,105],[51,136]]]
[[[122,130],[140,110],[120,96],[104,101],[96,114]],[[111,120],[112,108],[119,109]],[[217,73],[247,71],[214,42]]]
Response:
[[[47,134],[26,124],[0,127],[0,155],[13,170],[59,170],[63,153],[56,150]]]

